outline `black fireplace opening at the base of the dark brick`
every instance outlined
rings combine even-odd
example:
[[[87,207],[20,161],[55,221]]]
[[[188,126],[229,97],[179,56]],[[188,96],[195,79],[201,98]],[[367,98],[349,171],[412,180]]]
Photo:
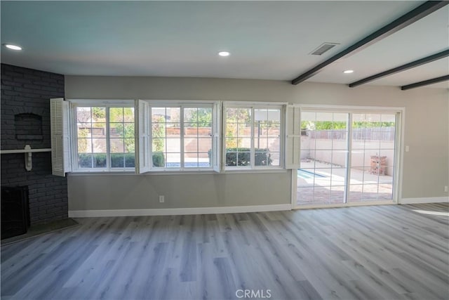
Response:
[[[1,187],[1,240],[27,233],[28,187]]]

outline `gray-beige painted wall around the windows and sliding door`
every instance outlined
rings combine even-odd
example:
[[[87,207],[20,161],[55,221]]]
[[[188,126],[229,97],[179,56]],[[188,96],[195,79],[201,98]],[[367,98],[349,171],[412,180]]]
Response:
[[[402,198],[447,197],[448,90],[247,79],[66,76],[68,99],[246,100],[406,107]],[[69,210],[224,207],[290,203],[291,172],[69,175]],[[166,196],[159,204],[158,195]]]

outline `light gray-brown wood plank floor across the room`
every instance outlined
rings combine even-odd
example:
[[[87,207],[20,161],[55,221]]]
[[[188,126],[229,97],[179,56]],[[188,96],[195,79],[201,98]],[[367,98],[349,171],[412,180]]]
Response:
[[[1,299],[448,299],[448,211],[77,219],[1,247]]]

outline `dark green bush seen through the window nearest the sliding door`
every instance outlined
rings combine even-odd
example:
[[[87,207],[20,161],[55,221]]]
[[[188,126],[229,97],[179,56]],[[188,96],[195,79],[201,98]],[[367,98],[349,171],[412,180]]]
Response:
[[[210,151],[209,157],[211,155]],[[256,148],[254,155],[255,166],[269,166],[273,160],[269,154],[269,149]],[[227,166],[249,166],[251,152],[250,148],[227,148],[226,149],[226,165]]]

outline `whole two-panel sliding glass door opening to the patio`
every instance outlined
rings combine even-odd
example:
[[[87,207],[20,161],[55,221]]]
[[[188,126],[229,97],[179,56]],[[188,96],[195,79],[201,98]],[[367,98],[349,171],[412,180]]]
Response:
[[[396,117],[302,110],[297,207],[391,202]]]

